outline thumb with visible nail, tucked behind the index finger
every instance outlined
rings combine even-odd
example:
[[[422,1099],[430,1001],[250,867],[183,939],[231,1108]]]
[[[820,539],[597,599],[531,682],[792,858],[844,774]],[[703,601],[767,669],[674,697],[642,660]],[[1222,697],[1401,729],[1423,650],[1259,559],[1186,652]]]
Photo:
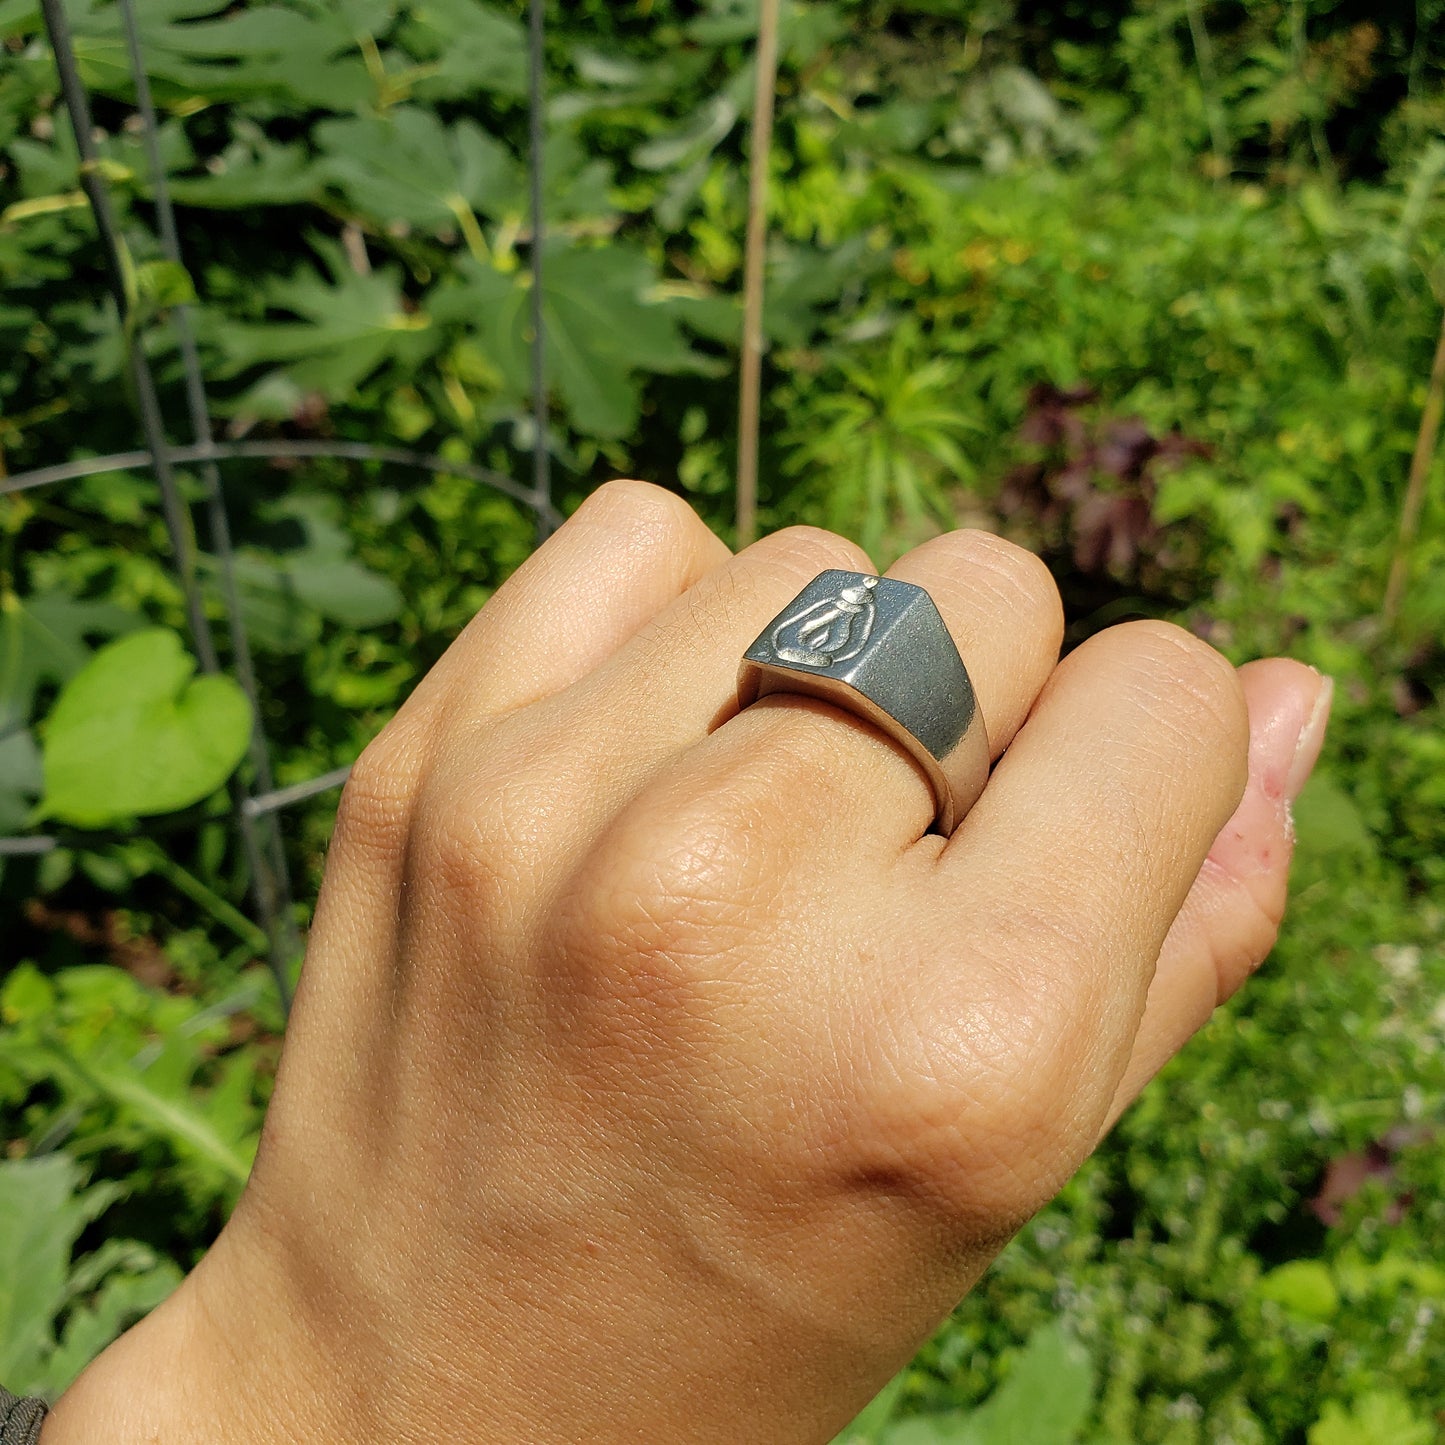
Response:
[[[1144,1019],[1110,1123],[1274,946],[1305,786],[1329,721],[1334,685],[1283,657],[1240,668],[1250,714],[1250,773],[1165,938]]]

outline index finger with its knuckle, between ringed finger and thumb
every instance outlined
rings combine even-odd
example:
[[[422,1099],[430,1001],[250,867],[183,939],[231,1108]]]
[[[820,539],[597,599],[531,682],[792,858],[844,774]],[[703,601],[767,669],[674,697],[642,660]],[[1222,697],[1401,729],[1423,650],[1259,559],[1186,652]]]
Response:
[[[968,1201],[1027,1214],[1092,1149],[1247,749],[1224,657],[1165,623],[1110,627],[1055,669],[946,847],[915,851],[894,912],[900,949],[923,959],[909,1036],[944,1121],[919,1147]]]

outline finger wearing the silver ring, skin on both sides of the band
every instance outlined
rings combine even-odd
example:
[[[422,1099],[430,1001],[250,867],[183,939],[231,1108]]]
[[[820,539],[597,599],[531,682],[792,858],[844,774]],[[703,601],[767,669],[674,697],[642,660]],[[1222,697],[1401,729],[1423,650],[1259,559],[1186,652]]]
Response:
[[[1058,660],[1064,611],[1048,568],[990,533],[952,532],[907,553],[889,575],[932,595],[965,659],[997,756]],[[728,629],[725,642],[679,679],[695,699],[694,725],[709,708],[733,711],[737,660],[798,591],[795,582],[770,588],[767,608]],[[712,829],[749,832],[795,874],[816,866],[848,877],[915,842],[933,811],[926,775],[879,728],[827,702],[773,694],[698,738],[631,825],[646,835],[705,815]]]

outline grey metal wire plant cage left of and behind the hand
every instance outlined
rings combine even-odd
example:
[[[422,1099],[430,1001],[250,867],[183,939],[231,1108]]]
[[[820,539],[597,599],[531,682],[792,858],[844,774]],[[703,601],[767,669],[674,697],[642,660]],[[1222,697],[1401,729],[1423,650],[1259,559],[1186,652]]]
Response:
[[[49,36],[55,66],[61,82],[61,94],[75,144],[79,153],[81,186],[95,218],[101,246],[105,254],[108,288],[120,312],[121,322],[129,319],[131,306],[126,285],[126,241],[111,201],[104,166],[95,146],[95,130],[91,123],[90,95],[81,79],[74,39],[62,0],[40,0],[45,29]],[[184,264],[175,210],[166,169],[160,156],[159,123],[150,82],[146,74],[144,55],[140,42],[140,26],[134,0],[117,0],[121,32],[131,79],[136,87],[136,110],[144,137],[146,166],[150,173],[156,233],[168,262]],[[548,451],[548,394],[546,355],[543,342],[543,296],[542,296],[542,253],[545,246],[543,217],[543,168],[542,150],[545,140],[545,84],[543,45],[546,40],[543,0],[529,4],[529,156],[530,168],[530,264],[532,264],[532,483],[523,486],[503,473],[487,467],[468,465],[434,454],[407,451],[397,447],[370,445],[366,442],[334,441],[217,441],[211,425],[211,409],[207,396],[205,373],[201,366],[195,329],[189,308],[171,308],[166,324],[173,329],[181,357],[185,394],[185,426],[191,439],[176,445],[171,439],[166,418],[150,364],[139,340],[127,345],[127,366],[134,387],[136,409],[140,422],[143,447],[136,451],[116,452],[108,457],[90,457],[81,461],[42,467],[0,480],[0,496],[29,491],[38,487],[52,487],[88,475],[123,468],[146,467],[160,486],[162,513],[175,568],[185,597],[186,623],[191,642],[201,670],[220,673],[221,652],[217,647],[212,624],[207,616],[207,598],[198,575],[197,520],[202,527],[199,535],[210,545],[215,559],[218,595],[224,614],[224,636],[230,657],[230,670],[246,692],[251,708],[251,740],[249,769],[238,770],[230,783],[231,816],[244,851],[250,874],[251,906],[256,919],[266,935],[267,962],[276,980],[285,1007],[290,1004],[292,975],[301,957],[301,938],[296,931],[290,889],[290,876],[283,847],[280,815],[285,809],[340,788],[350,769],[341,767],[305,782],[277,788],[272,772],[272,750],[263,722],[262,698],[251,662],[250,639],[241,613],[236,579],[236,551],[231,542],[230,519],[221,490],[220,467],[237,458],[341,458],[363,462],[379,462],[410,467],[422,471],[447,473],[448,475],[491,487],[530,509],[536,522],[536,539],[540,543],[561,523],[562,517],[552,499],[551,455]],[[201,481],[201,500],[194,506],[186,500],[178,467],[195,467]],[[172,819],[172,825],[185,825],[194,819]],[[162,827],[160,831],[165,831]],[[95,835],[36,834],[0,838],[0,857],[35,857],[68,842],[97,841]]]

